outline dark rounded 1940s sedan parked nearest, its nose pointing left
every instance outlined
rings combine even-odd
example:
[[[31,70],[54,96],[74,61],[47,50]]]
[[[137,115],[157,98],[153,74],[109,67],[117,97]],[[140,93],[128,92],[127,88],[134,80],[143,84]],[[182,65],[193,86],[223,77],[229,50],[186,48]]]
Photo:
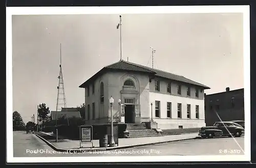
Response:
[[[233,122],[216,122],[213,126],[202,127],[198,135],[202,138],[212,138],[216,136],[236,136],[239,137],[244,133],[244,128]]]

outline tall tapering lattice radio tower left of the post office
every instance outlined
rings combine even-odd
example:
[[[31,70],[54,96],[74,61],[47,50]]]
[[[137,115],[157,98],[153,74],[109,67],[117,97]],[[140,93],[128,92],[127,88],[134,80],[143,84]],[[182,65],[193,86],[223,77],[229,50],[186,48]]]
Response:
[[[58,95],[57,95],[56,112],[55,112],[55,125],[56,126],[57,126],[57,111],[61,111],[61,107],[63,107],[63,106],[64,106],[64,108],[67,109],[66,97],[65,97],[65,91],[64,91],[63,75],[62,75],[62,69],[61,69],[61,43],[60,43],[60,64],[59,64],[58,78],[59,78],[59,85],[57,87]]]

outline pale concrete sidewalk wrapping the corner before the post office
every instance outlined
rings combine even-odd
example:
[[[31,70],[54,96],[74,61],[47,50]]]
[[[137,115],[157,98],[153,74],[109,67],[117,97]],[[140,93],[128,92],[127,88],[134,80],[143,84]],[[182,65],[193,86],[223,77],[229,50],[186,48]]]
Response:
[[[45,132],[41,132],[45,133]],[[51,133],[45,133],[48,135],[53,135]],[[38,135],[37,135],[38,136]],[[138,138],[119,138],[118,139],[118,146],[117,147],[106,147],[106,148],[99,148],[99,140],[93,140],[92,143],[82,143],[80,148],[79,141],[72,141],[69,139],[65,139],[63,142],[49,142],[46,139],[38,136],[45,141],[49,146],[51,146],[56,151],[105,151],[105,150],[114,150],[114,149],[124,149],[124,148],[133,148],[138,146],[145,146],[145,145],[155,145],[161,143],[168,143],[168,142],[176,142],[176,141],[184,141],[188,139],[195,139],[197,138],[198,133],[186,133],[186,134],[179,134],[179,135],[165,135],[165,136],[153,136],[153,137],[138,137]]]

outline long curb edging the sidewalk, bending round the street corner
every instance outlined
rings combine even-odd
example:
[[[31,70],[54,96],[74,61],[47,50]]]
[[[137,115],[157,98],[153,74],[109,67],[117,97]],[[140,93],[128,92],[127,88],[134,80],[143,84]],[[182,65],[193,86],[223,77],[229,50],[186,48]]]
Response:
[[[54,149],[57,152],[68,152],[68,153],[80,153],[82,151],[88,151],[88,152],[97,152],[97,151],[109,151],[109,150],[115,150],[115,149],[125,149],[125,148],[134,148],[134,147],[141,147],[141,146],[147,146],[147,145],[156,145],[156,144],[164,144],[164,143],[170,143],[170,142],[179,142],[179,141],[186,141],[190,139],[198,139],[199,137],[189,137],[189,138],[183,138],[183,139],[174,139],[169,141],[160,141],[160,142],[154,142],[154,143],[145,143],[145,144],[136,144],[136,145],[127,145],[127,146],[120,146],[120,147],[108,147],[108,148],[96,148],[96,149],[60,149],[57,148],[55,145],[47,141],[45,138],[35,134],[37,137],[39,137],[42,141],[44,141],[48,146],[50,146],[52,149]]]

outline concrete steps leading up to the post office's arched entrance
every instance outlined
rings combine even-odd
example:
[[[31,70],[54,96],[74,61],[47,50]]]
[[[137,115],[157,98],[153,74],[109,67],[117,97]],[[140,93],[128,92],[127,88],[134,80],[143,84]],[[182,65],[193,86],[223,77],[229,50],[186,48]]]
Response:
[[[162,136],[156,130],[147,129],[145,124],[127,124],[126,131],[129,132],[129,138]]]

